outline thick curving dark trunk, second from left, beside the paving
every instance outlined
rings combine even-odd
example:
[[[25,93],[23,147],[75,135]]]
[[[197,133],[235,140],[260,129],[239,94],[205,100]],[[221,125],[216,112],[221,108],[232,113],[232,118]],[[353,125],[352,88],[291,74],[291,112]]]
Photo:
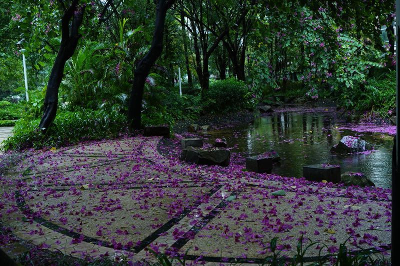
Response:
[[[141,128],[141,102],[143,99],[144,82],[155,60],[162,51],[162,38],[164,34],[165,15],[174,0],[157,0],[155,12],[155,27],[151,47],[134,69],[133,84],[130,90],[128,106],[129,130]]]

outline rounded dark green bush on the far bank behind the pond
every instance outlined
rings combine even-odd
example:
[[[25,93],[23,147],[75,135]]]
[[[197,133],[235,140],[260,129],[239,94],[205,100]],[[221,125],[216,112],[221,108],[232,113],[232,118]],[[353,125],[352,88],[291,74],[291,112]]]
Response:
[[[237,110],[246,107],[248,94],[243,81],[234,78],[210,80],[209,88],[204,93],[202,107],[207,112]]]

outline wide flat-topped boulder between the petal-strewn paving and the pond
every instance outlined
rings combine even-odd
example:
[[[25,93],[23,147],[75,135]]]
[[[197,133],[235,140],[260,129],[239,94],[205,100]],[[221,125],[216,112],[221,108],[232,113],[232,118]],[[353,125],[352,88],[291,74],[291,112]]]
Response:
[[[221,148],[194,148],[187,147],[180,153],[180,159],[187,162],[205,165],[228,166],[230,151]]]

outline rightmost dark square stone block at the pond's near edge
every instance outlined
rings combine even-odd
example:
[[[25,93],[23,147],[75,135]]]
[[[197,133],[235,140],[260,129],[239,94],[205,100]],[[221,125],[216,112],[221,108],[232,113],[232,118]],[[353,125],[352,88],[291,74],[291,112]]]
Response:
[[[307,180],[338,183],[340,182],[340,166],[331,164],[312,164],[303,166],[303,176]]]

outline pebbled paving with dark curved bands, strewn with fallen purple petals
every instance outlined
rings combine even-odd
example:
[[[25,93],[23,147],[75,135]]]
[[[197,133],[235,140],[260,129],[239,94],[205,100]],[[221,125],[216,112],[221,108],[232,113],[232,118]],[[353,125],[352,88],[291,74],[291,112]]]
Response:
[[[339,187],[304,179],[179,161],[178,140],[125,137],[34,152],[1,177],[1,246],[29,240],[75,257],[146,247],[189,260],[260,262],[277,237],[292,257],[300,235],[308,259],[390,246],[390,189]],[[161,153],[162,154],[161,154]],[[272,195],[283,189],[284,195]],[[8,232],[8,233],[4,233]],[[14,252],[15,254],[15,252]]]

